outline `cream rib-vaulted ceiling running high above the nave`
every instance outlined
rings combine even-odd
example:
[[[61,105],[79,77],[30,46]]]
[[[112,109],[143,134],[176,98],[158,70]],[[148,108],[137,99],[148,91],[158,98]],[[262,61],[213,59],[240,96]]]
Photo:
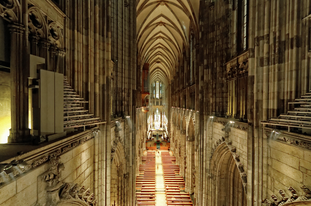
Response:
[[[176,73],[190,30],[198,30],[199,0],[137,0],[137,61],[150,64],[150,82],[167,86]]]

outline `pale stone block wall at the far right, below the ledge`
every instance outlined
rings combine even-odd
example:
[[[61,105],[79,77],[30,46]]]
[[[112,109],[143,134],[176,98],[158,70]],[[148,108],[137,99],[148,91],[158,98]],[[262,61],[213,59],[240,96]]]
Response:
[[[300,186],[311,186],[311,151],[275,140],[269,140],[268,151],[268,196],[278,196],[280,189],[291,196],[289,186],[303,194]]]

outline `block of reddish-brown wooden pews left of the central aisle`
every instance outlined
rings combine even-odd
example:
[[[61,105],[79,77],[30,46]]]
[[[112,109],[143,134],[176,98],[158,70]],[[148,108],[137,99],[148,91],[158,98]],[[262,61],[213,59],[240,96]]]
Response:
[[[139,175],[136,178],[137,206],[156,205],[156,159],[155,152],[148,151],[142,156],[142,163],[139,166]]]

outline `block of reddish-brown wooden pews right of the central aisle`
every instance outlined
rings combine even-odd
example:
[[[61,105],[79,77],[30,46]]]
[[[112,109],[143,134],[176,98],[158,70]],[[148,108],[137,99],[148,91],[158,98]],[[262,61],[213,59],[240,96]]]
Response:
[[[166,204],[167,206],[193,206],[188,193],[180,192],[185,189],[185,181],[179,176],[179,166],[175,156],[168,151],[161,151],[162,168],[164,174]]]

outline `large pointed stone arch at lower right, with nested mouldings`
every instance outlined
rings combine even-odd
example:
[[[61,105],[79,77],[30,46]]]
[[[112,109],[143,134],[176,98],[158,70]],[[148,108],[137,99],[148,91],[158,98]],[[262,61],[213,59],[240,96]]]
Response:
[[[211,205],[246,205],[244,190],[239,168],[236,165],[230,148],[221,142],[211,157]]]

